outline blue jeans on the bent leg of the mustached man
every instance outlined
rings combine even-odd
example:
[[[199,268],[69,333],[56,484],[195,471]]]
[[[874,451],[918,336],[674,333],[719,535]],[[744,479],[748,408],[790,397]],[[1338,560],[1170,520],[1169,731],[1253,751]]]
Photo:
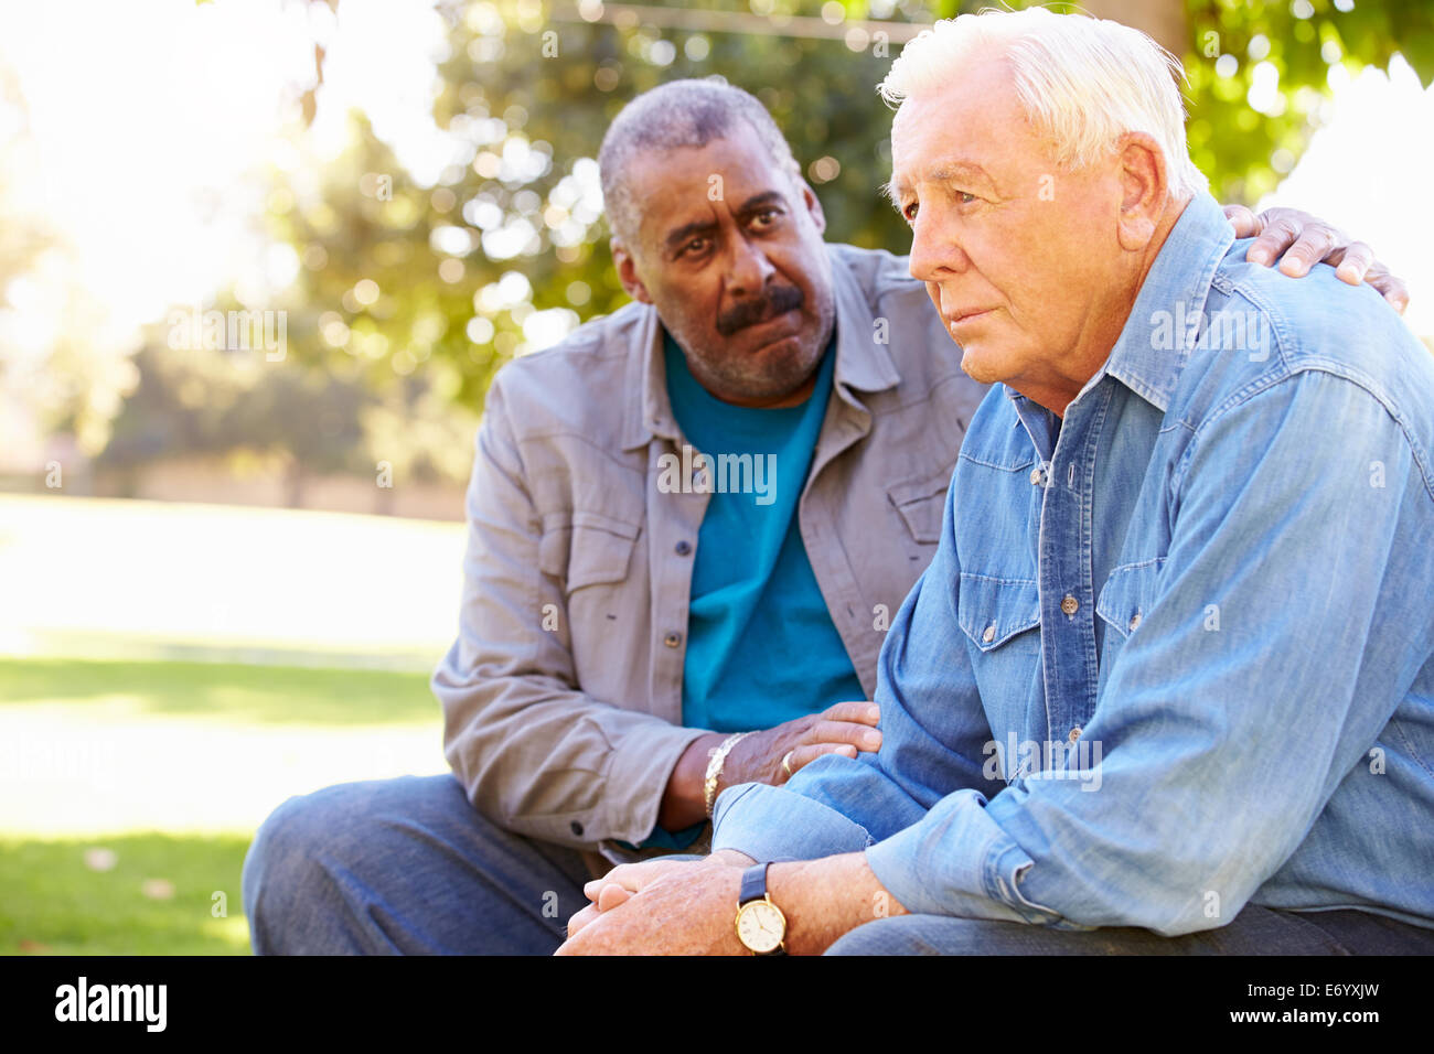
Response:
[[[257,955],[551,955],[587,906],[574,849],[486,820],[452,776],[291,797],[244,859]]]

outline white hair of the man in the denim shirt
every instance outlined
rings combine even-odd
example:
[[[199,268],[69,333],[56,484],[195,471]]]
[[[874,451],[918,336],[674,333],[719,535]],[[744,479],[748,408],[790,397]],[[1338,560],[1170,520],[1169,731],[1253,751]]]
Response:
[[[1004,52],[1015,93],[1057,163],[1083,168],[1107,156],[1127,132],[1144,132],[1164,153],[1170,192],[1189,198],[1209,181],[1190,161],[1180,60],[1137,29],[1086,14],[985,9],[922,30],[892,63],[879,92],[899,105],[948,83],[972,53]]]

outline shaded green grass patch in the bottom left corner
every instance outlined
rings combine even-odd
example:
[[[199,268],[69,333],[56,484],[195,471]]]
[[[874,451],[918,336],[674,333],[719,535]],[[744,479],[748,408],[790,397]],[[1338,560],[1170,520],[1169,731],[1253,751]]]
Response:
[[[115,866],[87,868],[90,848],[113,852]],[[244,955],[247,848],[241,836],[0,837],[0,955]],[[172,898],[146,896],[152,879],[171,883]]]

